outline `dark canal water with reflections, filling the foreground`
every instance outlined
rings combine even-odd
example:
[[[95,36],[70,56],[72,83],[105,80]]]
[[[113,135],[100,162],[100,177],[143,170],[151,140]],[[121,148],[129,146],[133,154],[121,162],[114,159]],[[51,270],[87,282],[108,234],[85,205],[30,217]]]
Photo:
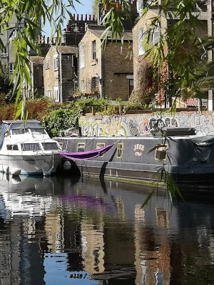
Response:
[[[1,176],[0,284],[214,284],[214,187],[186,189]]]

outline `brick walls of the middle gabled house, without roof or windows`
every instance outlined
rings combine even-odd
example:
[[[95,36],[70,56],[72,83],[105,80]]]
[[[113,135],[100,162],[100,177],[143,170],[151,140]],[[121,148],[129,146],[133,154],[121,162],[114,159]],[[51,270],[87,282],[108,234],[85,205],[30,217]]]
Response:
[[[96,41],[97,61],[92,60],[92,42]],[[82,91],[84,81],[85,92],[91,93],[91,79],[99,78],[98,90],[101,96],[111,97],[113,100],[122,98],[128,100],[129,79],[128,74],[133,74],[133,59],[131,58],[131,43],[108,43],[103,51],[101,40],[88,30],[79,45],[85,47],[85,66],[81,68],[79,60],[79,88]],[[103,58],[102,58],[103,54]],[[80,55],[81,56],[81,55]]]

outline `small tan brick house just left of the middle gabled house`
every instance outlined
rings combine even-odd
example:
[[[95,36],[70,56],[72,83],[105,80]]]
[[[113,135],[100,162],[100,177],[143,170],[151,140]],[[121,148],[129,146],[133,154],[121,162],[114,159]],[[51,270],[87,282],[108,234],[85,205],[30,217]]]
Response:
[[[77,48],[51,46],[44,58],[44,95],[56,102],[71,98],[77,84]]]

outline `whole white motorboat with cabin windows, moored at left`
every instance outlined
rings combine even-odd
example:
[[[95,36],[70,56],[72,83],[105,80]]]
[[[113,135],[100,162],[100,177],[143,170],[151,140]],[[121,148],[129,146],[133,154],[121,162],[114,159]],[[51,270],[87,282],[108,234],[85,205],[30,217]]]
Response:
[[[0,172],[44,175],[56,172],[60,145],[38,120],[3,120],[0,126]]]

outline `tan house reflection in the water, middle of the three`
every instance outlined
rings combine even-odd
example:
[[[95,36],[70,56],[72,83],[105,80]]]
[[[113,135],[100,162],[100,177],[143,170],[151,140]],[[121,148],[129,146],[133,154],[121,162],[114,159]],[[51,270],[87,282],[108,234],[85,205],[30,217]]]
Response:
[[[102,273],[104,268],[103,227],[88,224],[88,219],[81,222],[81,248],[83,269],[90,274]]]

